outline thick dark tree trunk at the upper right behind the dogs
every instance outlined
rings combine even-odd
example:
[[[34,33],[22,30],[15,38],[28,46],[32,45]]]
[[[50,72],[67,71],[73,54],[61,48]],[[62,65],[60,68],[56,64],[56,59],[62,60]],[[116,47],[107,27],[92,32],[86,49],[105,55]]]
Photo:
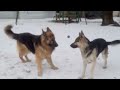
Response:
[[[103,11],[102,26],[107,26],[109,24],[119,26],[119,24],[113,20],[113,11]]]

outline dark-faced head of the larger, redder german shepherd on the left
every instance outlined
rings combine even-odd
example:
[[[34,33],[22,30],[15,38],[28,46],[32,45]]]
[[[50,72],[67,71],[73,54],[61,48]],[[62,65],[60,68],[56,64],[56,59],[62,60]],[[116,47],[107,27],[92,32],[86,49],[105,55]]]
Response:
[[[55,40],[55,36],[49,27],[47,27],[46,32],[44,30],[42,30],[42,33],[44,36],[44,43],[46,43],[48,46],[50,46],[52,48],[58,47],[58,44]]]

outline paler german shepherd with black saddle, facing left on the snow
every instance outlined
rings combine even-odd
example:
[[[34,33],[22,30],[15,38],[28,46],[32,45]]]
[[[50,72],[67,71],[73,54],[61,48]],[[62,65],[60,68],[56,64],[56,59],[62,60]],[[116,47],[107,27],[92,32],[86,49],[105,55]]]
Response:
[[[84,35],[83,31],[81,31],[75,42],[70,45],[72,48],[80,48],[81,51],[83,59],[83,70],[80,79],[83,79],[85,77],[86,67],[89,63],[92,63],[92,67],[90,70],[90,79],[93,79],[96,59],[100,53],[102,53],[104,59],[103,68],[107,68],[108,46],[117,44],[120,44],[120,40],[107,42],[102,38],[98,38],[93,41],[89,41],[89,39],[86,38],[86,36]]]

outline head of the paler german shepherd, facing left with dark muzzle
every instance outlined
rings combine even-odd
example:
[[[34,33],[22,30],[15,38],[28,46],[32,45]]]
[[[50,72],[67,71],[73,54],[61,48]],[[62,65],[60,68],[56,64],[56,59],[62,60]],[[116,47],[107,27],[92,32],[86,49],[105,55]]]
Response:
[[[89,43],[89,40],[85,37],[83,31],[79,33],[79,36],[75,39],[74,43],[72,43],[70,46],[72,48],[83,48],[86,47]]]

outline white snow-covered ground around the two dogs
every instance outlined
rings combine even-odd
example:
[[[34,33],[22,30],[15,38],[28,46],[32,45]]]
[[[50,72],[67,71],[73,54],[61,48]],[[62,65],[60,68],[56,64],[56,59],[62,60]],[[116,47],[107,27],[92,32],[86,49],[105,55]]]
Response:
[[[16,50],[16,42],[9,39],[3,32],[3,28],[8,25],[14,25],[12,29],[16,33],[30,32],[41,34],[41,29],[50,27],[55,33],[56,41],[59,47],[54,51],[52,58],[54,64],[59,70],[51,70],[48,63],[43,61],[42,79],[77,79],[82,72],[82,58],[79,49],[72,49],[70,44],[83,30],[85,35],[90,39],[104,38],[107,41],[120,39],[120,27],[100,26],[101,20],[88,20],[88,25],[82,22],[76,24],[63,24],[50,22],[51,19],[26,19],[19,20],[15,25],[13,19],[0,20],[0,79],[37,79],[37,67],[35,57],[29,54],[32,62],[21,63]],[[115,18],[118,22],[119,18]],[[70,35],[70,38],[67,36]],[[120,79],[120,45],[109,46],[108,68],[102,69],[103,59],[97,60],[95,68],[95,79]],[[86,78],[89,78],[90,65],[87,67]]]

